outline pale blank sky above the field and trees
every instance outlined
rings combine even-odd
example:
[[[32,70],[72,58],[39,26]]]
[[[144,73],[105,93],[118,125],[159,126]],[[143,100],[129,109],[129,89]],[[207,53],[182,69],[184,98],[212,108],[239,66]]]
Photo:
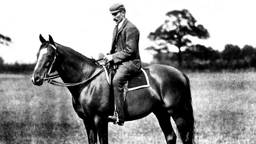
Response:
[[[114,3],[124,4],[126,18],[139,29],[144,62],[152,60],[145,48],[156,44],[147,39],[148,34],[173,10],[189,10],[197,24],[209,31],[210,38],[191,38],[193,44],[219,51],[226,44],[256,47],[253,0],[5,0],[0,5],[0,34],[12,42],[0,44],[0,57],[5,63],[35,63],[39,35],[48,40],[50,34],[55,42],[97,59],[111,49],[115,22],[109,7]]]

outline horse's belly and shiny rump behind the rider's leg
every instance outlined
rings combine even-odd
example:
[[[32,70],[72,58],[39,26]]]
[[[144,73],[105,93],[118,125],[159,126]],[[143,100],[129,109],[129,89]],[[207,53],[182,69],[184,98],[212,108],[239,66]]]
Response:
[[[166,65],[151,65],[148,79],[150,87],[132,90],[126,96],[126,120],[142,118],[157,107],[176,107],[186,88],[182,72]]]

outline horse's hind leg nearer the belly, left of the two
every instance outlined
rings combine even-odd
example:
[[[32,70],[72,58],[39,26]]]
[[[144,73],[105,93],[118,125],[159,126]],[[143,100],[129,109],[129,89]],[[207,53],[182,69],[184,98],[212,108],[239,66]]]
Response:
[[[176,144],[176,134],[174,133],[173,126],[171,124],[171,116],[164,109],[158,109],[153,112],[158,119],[160,127],[165,135],[167,144]]]

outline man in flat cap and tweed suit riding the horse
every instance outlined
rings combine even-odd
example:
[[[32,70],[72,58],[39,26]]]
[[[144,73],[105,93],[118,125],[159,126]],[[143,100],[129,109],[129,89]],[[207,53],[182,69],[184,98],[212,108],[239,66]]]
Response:
[[[139,30],[126,17],[122,4],[113,4],[109,8],[113,20],[117,23],[113,32],[110,54],[104,57],[106,62],[116,65],[113,78],[113,91],[117,115],[109,120],[122,126],[124,124],[124,84],[141,71],[139,56]]]

